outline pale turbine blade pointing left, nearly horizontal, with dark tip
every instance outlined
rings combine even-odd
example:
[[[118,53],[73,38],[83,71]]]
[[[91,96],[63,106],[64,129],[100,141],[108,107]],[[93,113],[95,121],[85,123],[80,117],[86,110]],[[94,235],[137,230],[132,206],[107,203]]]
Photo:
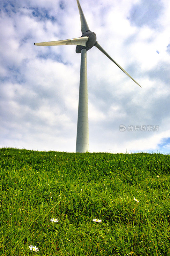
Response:
[[[82,36],[82,37],[66,39],[66,40],[43,42],[43,43],[36,43],[36,44],[34,43],[34,44],[39,45],[39,46],[67,45],[67,44],[75,44],[75,45],[86,46],[87,41],[88,41],[88,37],[87,36]]]

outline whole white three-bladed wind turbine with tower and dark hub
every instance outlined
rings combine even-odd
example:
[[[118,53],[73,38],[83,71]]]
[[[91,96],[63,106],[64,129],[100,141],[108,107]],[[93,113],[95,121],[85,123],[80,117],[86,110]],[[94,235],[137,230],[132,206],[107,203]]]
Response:
[[[103,52],[110,60],[112,60],[122,71],[128,75],[136,84],[135,81],[115,60],[113,60],[108,53],[100,46],[96,41],[96,34],[90,31],[85,15],[80,6],[79,0],[77,0],[78,10],[81,21],[82,36],[78,38],[36,43],[40,46],[52,46],[52,45],[67,45],[75,44],[76,52],[81,53],[81,65],[80,65],[80,86],[79,86],[79,100],[78,100],[78,123],[77,123],[77,140],[76,140],[76,152],[84,153],[89,151],[89,121],[88,121],[88,94],[87,94],[87,51],[93,46],[96,46],[101,52]],[[140,84],[138,84],[140,86]],[[140,86],[142,87],[142,86]]]

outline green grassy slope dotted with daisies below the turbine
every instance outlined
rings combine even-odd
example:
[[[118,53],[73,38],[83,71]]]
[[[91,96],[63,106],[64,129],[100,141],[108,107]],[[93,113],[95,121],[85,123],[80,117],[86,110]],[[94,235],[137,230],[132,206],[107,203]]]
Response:
[[[1,148],[0,252],[170,255],[169,164],[162,154]]]

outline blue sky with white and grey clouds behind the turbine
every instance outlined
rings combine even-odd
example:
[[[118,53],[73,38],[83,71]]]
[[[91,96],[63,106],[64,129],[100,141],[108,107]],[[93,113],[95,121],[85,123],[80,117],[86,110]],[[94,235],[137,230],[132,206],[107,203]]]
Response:
[[[170,1],[80,0],[90,152],[170,153]],[[34,43],[81,36],[76,0],[0,3],[0,147],[75,152],[81,54]],[[120,129],[123,127],[124,129]]]

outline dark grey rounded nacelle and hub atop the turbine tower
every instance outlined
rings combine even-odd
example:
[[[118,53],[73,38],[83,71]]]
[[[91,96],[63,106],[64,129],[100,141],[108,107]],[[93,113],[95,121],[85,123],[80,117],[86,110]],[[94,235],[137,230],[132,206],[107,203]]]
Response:
[[[77,45],[76,46],[76,52],[81,53],[81,50],[85,48],[87,51],[90,50],[95,44],[97,44],[96,41],[96,34],[90,30],[87,30],[81,37],[87,36],[88,41],[86,42],[86,46]]]

